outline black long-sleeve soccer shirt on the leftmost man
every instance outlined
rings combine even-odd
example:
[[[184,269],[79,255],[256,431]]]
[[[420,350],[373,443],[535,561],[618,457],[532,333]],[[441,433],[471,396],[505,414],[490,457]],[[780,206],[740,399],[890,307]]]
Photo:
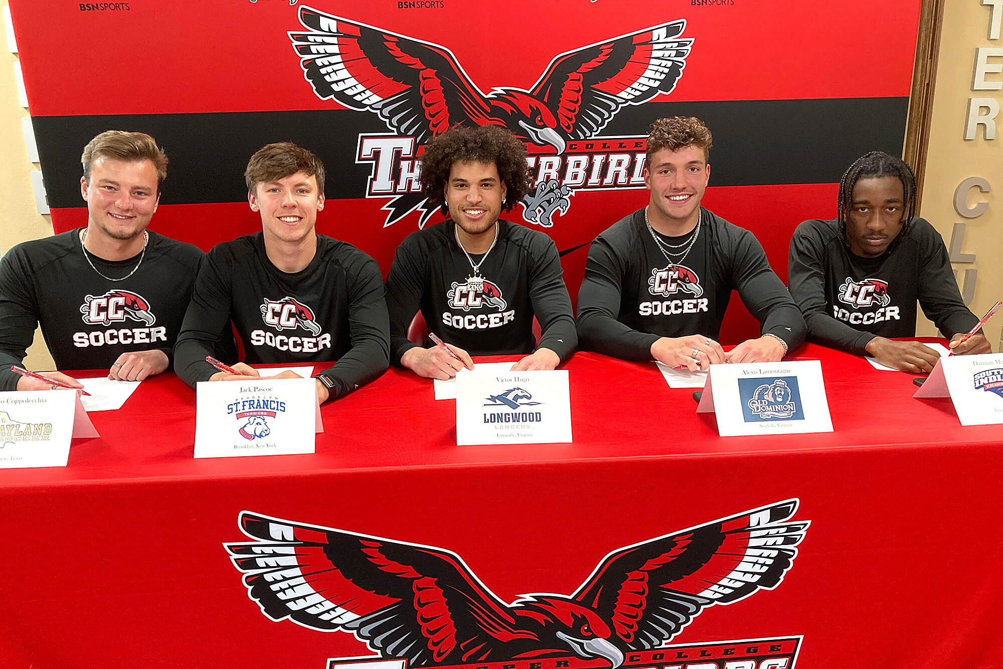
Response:
[[[56,369],[108,369],[123,353],[162,351],[172,359],[204,254],[149,231],[145,253],[125,260],[84,257],[80,230],[27,241],[0,261],[0,390],[17,389],[41,324]],[[140,262],[141,258],[141,262]]]

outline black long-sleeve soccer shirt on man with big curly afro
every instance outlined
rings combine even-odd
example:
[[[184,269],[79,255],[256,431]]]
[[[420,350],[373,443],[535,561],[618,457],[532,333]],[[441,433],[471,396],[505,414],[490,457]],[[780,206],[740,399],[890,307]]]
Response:
[[[400,365],[416,346],[407,340],[407,327],[419,308],[429,331],[471,356],[533,353],[536,316],[539,347],[568,360],[578,336],[554,241],[499,220],[497,242],[479,267],[478,283],[468,280],[473,270],[456,244],[454,226],[444,221],[413,232],[397,247],[386,279],[390,360]],[[470,257],[476,263],[483,256]]]

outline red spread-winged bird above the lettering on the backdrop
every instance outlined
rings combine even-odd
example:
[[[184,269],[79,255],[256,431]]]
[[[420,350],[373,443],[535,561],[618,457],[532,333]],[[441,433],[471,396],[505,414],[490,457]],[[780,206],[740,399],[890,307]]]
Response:
[[[484,94],[452,52],[432,42],[300,8],[309,32],[290,32],[306,79],[321,99],[378,114],[418,144],[456,125],[503,126],[563,153],[599,133],[626,104],[676,86],[693,40],[685,20],[662,23],[555,57],[530,90]]]

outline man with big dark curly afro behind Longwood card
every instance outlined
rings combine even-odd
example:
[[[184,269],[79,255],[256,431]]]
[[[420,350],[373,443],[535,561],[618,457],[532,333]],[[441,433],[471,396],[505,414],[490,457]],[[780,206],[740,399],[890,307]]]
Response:
[[[513,367],[527,371],[553,370],[574,353],[575,319],[554,241],[498,218],[530,190],[526,157],[526,147],[495,126],[453,128],[425,147],[422,188],[449,218],[397,247],[386,279],[395,365],[444,380],[472,369],[470,356],[527,354]],[[407,340],[419,308],[448,349]]]

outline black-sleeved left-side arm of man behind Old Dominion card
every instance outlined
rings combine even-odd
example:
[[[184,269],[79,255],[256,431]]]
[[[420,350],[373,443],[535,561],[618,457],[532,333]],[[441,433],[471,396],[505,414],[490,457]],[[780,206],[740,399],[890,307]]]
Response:
[[[651,360],[657,334],[639,332],[617,320],[623,269],[602,239],[589,248],[585,278],[578,291],[579,345],[622,360]]]

